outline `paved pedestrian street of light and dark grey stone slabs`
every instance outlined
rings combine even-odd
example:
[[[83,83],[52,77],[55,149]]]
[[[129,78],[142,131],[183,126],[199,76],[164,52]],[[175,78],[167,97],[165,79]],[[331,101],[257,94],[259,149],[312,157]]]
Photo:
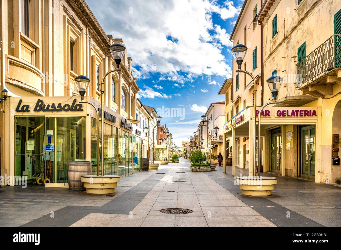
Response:
[[[8,220],[0,220],[0,226],[341,225],[339,187],[279,177],[272,196],[250,197],[234,185],[231,168],[227,167],[226,174],[222,167],[216,169],[191,172],[190,162],[180,158],[179,163],[160,165],[159,170],[123,177],[110,195],[7,186],[1,189],[0,215]],[[172,208],[193,212],[160,212]]]

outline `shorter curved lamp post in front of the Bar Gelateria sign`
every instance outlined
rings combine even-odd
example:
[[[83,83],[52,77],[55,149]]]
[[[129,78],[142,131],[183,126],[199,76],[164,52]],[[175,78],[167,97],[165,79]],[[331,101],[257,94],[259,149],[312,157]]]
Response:
[[[261,177],[261,157],[260,157],[261,146],[262,146],[261,145],[261,112],[263,111],[263,109],[267,105],[275,104],[275,103],[280,103],[280,102],[277,101],[277,95],[278,95],[278,91],[282,87],[282,81],[283,81],[283,79],[280,76],[277,76],[277,75],[271,76],[271,77],[269,77],[266,80],[266,82],[268,84],[268,88],[270,89],[270,91],[272,93],[273,101],[265,103],[261,107],[260,111],[258,112],[258,147],[257,147],[257,154],[258,154],[258,164],[257,164],[258,165],[258,177]]]

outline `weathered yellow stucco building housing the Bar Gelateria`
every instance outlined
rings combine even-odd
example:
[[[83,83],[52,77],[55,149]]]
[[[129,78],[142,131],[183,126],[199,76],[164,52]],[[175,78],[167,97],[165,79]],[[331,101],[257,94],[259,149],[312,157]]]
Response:
[[[231,40],[234,45],[248,47],[242,64],[246,68],[242,66],[242,69],[252,72],[256,79],[257,110],[273,100],[266,79],[273,75],[283,78],[277,98],[280,103],[267,106],[260,114],[261,153],[255,159],[257,162],[261,157],[261,171],[315,182],[341,183],[338,160],[341,156],[340,33],[340,1],[244,1]],[[233,71],[236,69],[234,62]],[[244,77],[247,87],[240,91]],[[237,165],[233,159],[233,169],[249,165],[249,173],[253,175],[252,120],[257,121],[259,114],[253,117],[250,80],[246,74],[233,72],[231,87],[221,91],[229,96],[237,95],[231,98],[234,108],[238,100],[246,100],[244,109],[227,119],[224,134],[233,137],[233,151],[236,140],[246,138],[249,156],[240,157],[239,161],[249,164]],[[225,99],[227,105],[230,98]],[[233,157],[238,157],[236,152]]]

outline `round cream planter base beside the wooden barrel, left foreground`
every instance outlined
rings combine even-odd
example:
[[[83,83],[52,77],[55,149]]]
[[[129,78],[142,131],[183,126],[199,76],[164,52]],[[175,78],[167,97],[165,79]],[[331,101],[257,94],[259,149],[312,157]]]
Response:
[[[81,181],[84,182],[86,192],[89,194],[111,194],[115,193],[120,176],[89,174],[82,176]]]

